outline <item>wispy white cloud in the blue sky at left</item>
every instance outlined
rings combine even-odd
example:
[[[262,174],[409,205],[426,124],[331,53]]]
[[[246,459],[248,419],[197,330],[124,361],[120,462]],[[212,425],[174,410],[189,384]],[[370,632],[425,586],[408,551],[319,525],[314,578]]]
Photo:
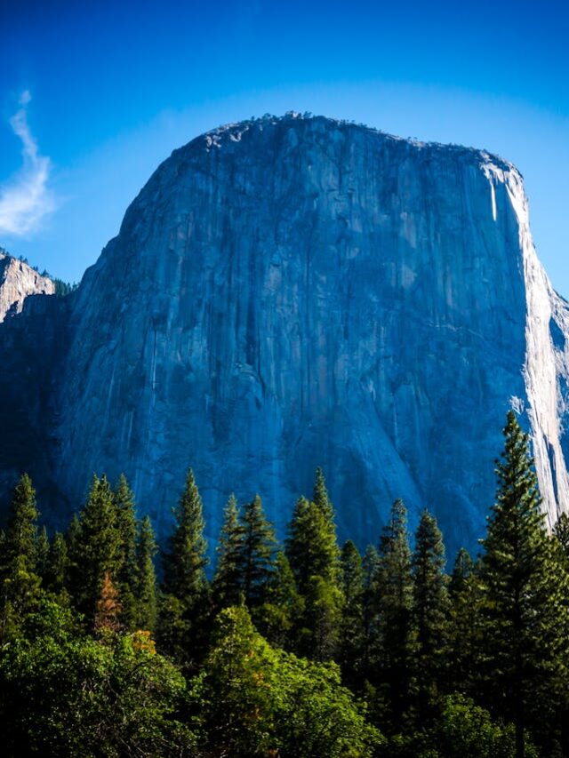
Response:
[[[36,231],[44,217],[55,207],[48,187],[51,161],[40,155],[37,142],[29,130],[30,100],[28,90],[22,92],[20,108],[10,119],[14,134],[21,140],[23,164],[20,171],[0,187],[0,233],[8,235],[24,236]]]

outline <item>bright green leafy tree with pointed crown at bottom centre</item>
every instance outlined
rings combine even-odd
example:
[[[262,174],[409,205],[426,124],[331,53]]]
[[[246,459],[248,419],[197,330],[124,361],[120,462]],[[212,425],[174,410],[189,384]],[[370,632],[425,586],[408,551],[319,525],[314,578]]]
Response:
[[[381,744],[337,666],[272,649],[244,607],[220,614],[192,699],[216,755],[371,756]]]

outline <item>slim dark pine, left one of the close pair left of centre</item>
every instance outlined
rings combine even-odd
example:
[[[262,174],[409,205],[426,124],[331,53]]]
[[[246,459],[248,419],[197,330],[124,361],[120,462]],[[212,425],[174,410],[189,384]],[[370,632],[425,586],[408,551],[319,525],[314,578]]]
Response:
[[[243,555],[244,528],[240,522],[239,508],[234,494],[228,499],[223,512],[217,566],[212,581],[213,602],[218,610],[239,603],[242,592],[241,561]]]

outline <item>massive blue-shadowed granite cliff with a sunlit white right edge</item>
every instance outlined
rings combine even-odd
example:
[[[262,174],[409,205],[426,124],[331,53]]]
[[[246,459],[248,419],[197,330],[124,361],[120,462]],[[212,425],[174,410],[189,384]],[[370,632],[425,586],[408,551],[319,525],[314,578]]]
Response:
[[[343,537],[376,541],[403,497],[476,547],[512,404],[549,520],[569,507],[569,307],[519,173],[484,151],[322,117],[215,130],[157,169],[78,291],[12,322],[52,355],[27,423],[53,513],[124,471],[164,534],[191,464],[210,537],[231,491],[260,491],[282,535],[321,465]]]

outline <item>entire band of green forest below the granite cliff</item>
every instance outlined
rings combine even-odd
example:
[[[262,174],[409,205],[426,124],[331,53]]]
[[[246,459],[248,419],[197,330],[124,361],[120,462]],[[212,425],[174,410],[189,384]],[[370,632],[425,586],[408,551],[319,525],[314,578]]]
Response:
[[[0,533],[2,754],[569,755],[569,518],[545,523],[513,411],[503,435],[478,555],[445,555],[428,510],[409,533],[402,500],[363,554],[339,544],[320,469],[282,543],[260,495],[229,497],[211,563],[191,468],[161,549],[124,476],[93,476],[49,534],[21,475]]]

